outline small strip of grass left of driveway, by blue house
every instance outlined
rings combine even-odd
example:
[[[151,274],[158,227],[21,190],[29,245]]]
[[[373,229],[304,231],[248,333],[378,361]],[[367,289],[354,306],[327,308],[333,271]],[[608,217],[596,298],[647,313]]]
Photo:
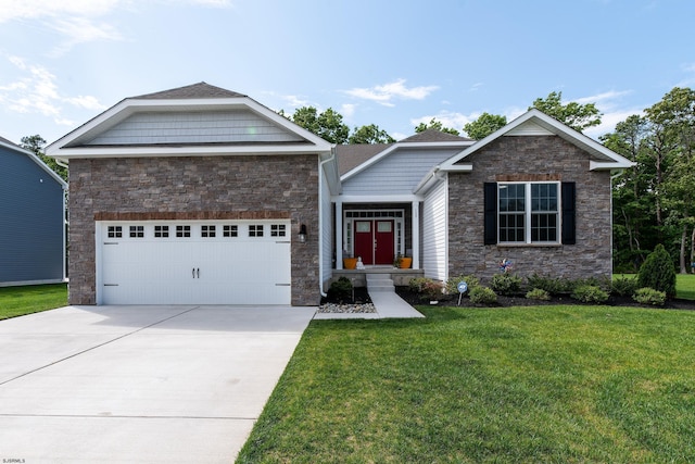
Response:
[[[67,305],[67,284],[0,287],[0,319]]]

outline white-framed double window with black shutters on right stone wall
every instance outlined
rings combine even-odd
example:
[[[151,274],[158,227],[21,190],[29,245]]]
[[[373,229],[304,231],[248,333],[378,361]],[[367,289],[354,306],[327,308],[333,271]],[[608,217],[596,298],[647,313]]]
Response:
[[[485,184],[485,244],[574,243],[574,183]]]

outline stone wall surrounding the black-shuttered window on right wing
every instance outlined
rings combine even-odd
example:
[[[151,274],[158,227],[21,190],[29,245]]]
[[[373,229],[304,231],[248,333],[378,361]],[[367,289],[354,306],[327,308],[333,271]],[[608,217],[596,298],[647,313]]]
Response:
[[[610,174],[589,171],[589,153],[556,136],[507,136],[466,161],[472,162],[472,173],[448,174],[450,276],[488,280],[505,258],[519,276],[610,276]],[[483,184],[543,175],[577,183],[577,244],[483,246]]]

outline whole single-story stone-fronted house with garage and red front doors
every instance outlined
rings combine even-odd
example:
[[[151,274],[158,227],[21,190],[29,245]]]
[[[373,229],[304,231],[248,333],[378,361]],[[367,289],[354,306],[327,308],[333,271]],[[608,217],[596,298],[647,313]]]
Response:
[[[47,153],[70,163],[71,304],[315,305],[348,255],[609,275],[610,173],[631,165],[535,110],[477,142],[333,147],[205,83],[126,98]]]

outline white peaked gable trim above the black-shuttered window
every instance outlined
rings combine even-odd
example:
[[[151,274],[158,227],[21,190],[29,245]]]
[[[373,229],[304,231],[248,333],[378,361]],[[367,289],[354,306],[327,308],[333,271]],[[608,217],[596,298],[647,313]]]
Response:
[[[595,162],[593,162],[590,167],[592,171],[627,168],[631,167],[634,164],[627,158],[623,158],[618,153],[615,153],[614,151],[607,149],[603,145],[598,143],[596,140],[566,126],[559,121],[548,116],[547,114],[536,109],[532,109],[521,116],[517,117],[506,126],[502,127],[501,129],[495,130],[488,137],[479,140],[473,146],[467,148],[455,156],[450,158],[448,160],[443,162],[440,167],[442,171],[456,171],[456,163],[459,163],[470,154],[477,152],[478,150],[488,146],[490,142],[496,140],[500,137],[540,135],[541,133],[545,133],[545,135],[555,135],[561,137],[570,143],[591,153],[591,155],[595,159]]]

